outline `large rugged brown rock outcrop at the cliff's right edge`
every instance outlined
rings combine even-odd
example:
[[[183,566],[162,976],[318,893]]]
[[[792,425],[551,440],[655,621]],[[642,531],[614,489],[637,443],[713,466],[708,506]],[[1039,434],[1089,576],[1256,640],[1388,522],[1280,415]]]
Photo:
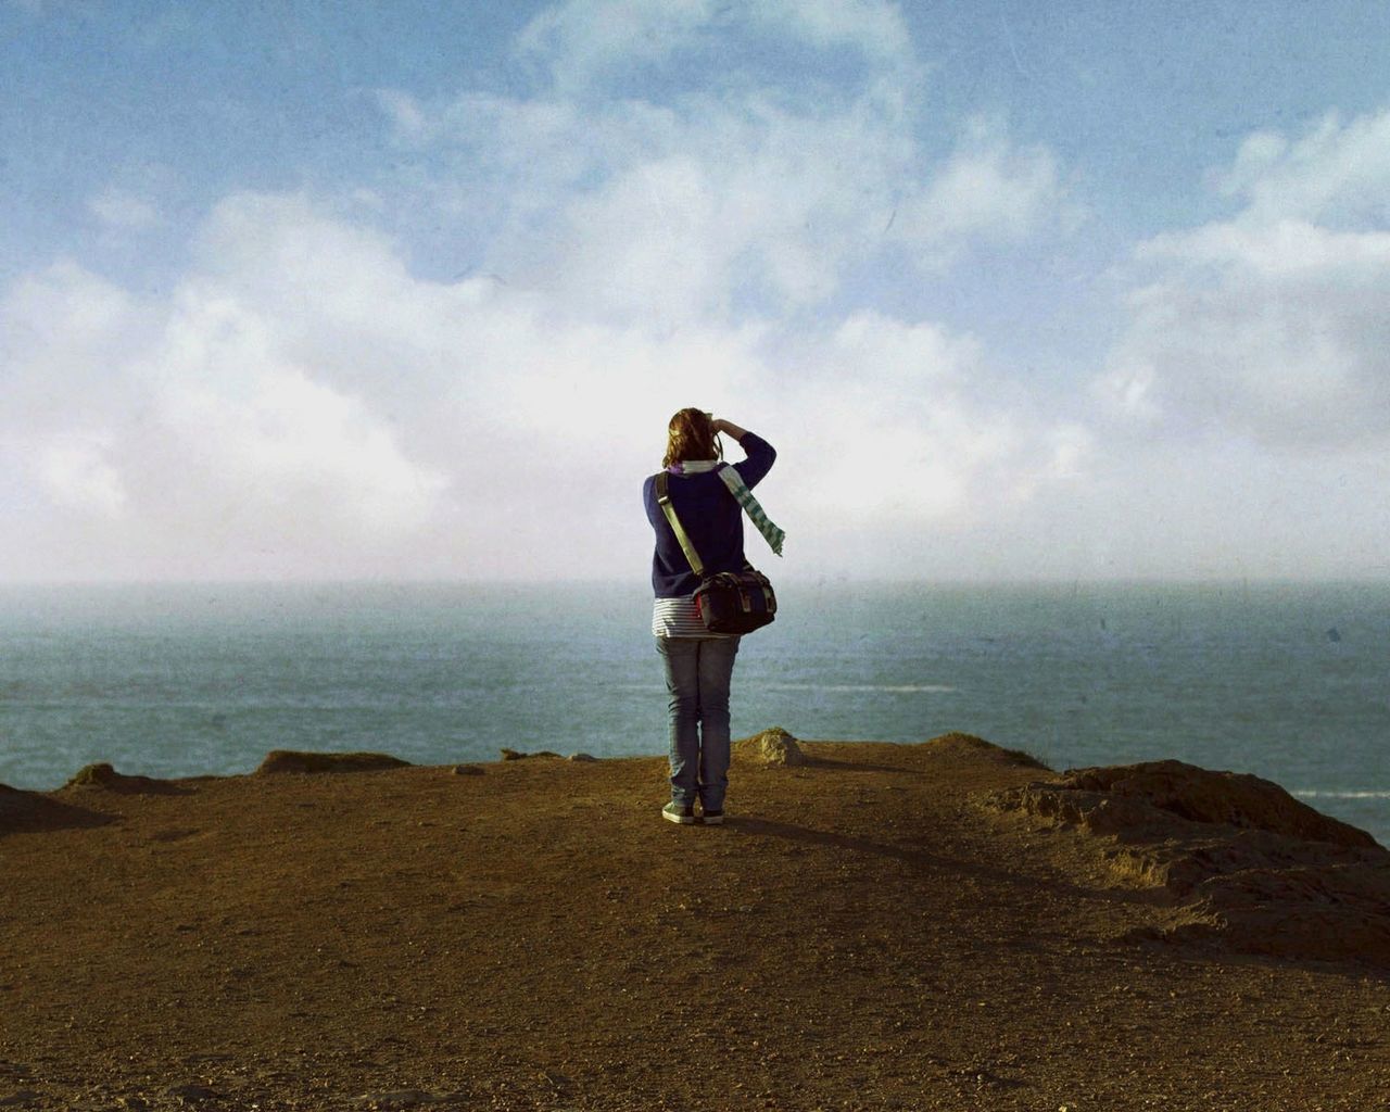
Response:
[[[1138,937],[1390,967],[1390,852],[1268,780],[1162,760],[1068,771],[988,805],[1095,837],[1115,883],[1169,912]]]

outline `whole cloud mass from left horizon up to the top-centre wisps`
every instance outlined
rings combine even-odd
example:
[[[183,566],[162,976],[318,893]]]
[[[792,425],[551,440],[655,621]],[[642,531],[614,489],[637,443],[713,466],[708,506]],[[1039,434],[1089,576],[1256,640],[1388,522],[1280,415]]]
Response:
[[[531,96],[379,93],[414,170],[368,204],[360,182],[234,192],[158,295],[78,263],[13,284],[0,464],[44,527],[6,559],[43,574],[76,538],[96,574],[639,575],[637,492],[688,404],[777,443],[769,509],[821,570],[860,559],[845,530],[966,530],[1074,481],[1086,430],[979,339],[853,285],[1048,228],[1049,152],[976,121],[929,154],[891,6],[614,0],[617,38],[591,8],[523,35],[555,78]],[[735,32],[852,56],[853,76],[831,97],[756,67],[594,95],[624,58],[674,67]],[[427,236],[473,265],[425,277]],[[908,543],[872,559],[917,571]]]

